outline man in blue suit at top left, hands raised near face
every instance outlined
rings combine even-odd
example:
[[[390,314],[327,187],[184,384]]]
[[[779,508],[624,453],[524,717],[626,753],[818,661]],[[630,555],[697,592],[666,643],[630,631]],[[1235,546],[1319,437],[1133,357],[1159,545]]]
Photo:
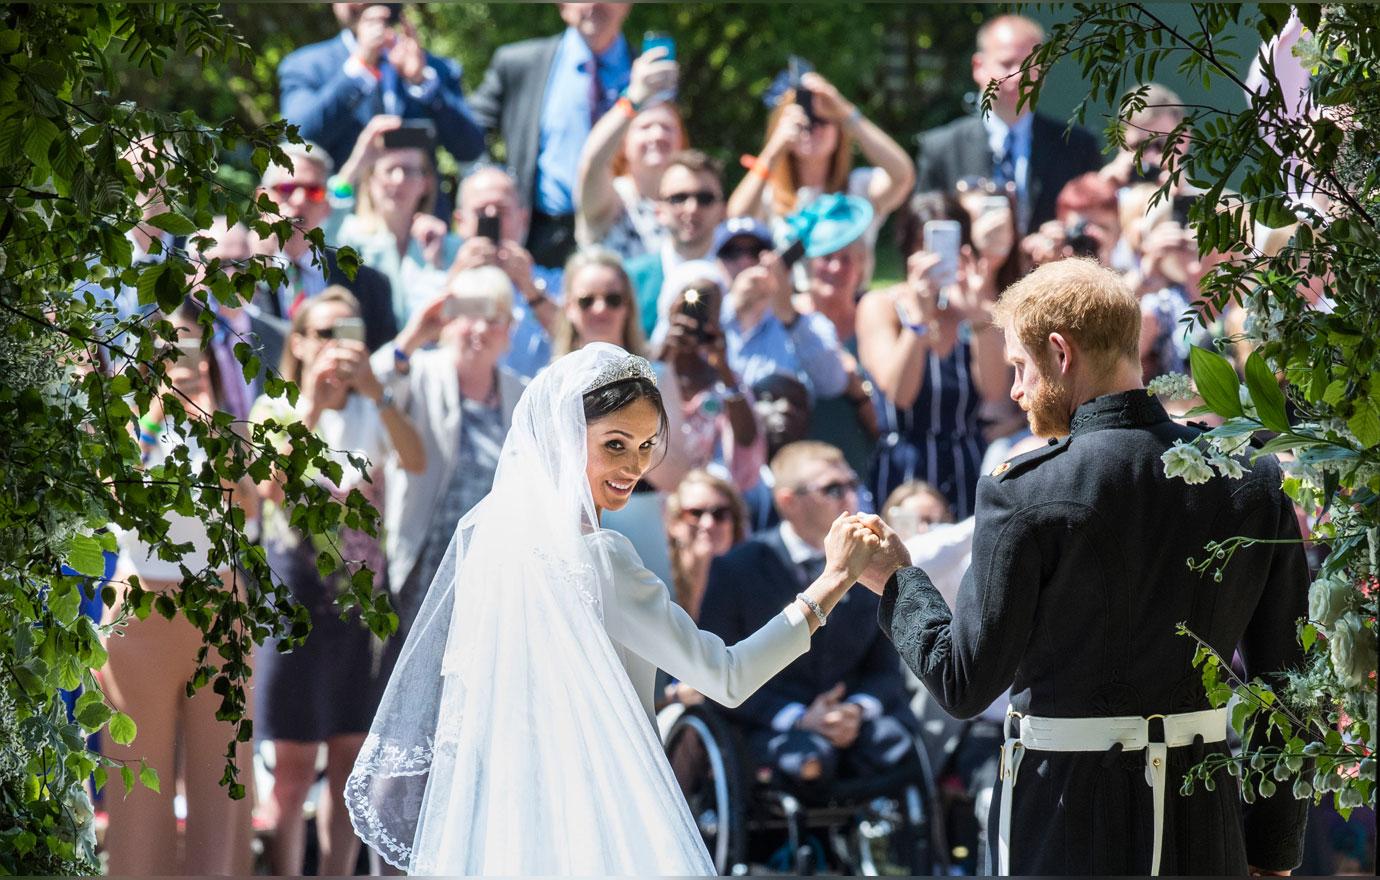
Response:
[[[304,46],[277,66],[283,119],[344,164],[360,132],[379,114],[425,119],[433,141],[455,161],[484,150],[471,114],[460,65],[432,55],[417,39],[402,3],[335,3],[341,32]]]

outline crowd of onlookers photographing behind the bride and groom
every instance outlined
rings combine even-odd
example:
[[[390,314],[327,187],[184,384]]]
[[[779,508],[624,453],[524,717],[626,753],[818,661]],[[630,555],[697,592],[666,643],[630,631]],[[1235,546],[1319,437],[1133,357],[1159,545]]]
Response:
[[[239,308],[206,303],[217,335],[206,352],[184,350],[172,381],[236,419],[299,419],[341,463],[349,452],[370,462],[368,481],[349,466],[341,484],[315,476],[334,492],[367,491],[381,510],[381,539],[331,542],[374,570],[400,628],[378,644],[342,621],[339,575],[315,564],[322,537],[288,521],[272,480],[243,487],[237,501],[312,619],[305,647],[265,646],[255,659],[255,734],[272,743],[259,822],[275,873],[302,873],[302,806],[323,767],[317,869],[352,872],[345,778],[457,521],[489,491],[518,399],[553,359],[609,342],[654,361],[667,443],[603,524],[731,643],[813,581],[842,512],[880,514],[936,566],[941,589],[956,589],[980,474],[1042,443],[1009,396],[991,320],[1031,268],[1086,257],[1123,273],[1140,297],[1145,381],[1185,370],[1190,332],[1243,324],[1231,309],[1206,328],[1183,321],[1223,257],[1199,254],[1190,193],[1151,197],[1181,149],[1166,139],[1181,112],[1167,88],[1150,84],[1126,146],[1104,156],[1086,130],[1020,106],[1013,74],[1043,34],[1002,15],[973,52],[976,91],[999,81],[991,113],[920,134],[911,156],[901,143],[916,132],[883,131],[825,72],[793,63],[769,92],[763,131],[741,132],[758,153],[730,190],[690,143],[673,44],[639,52],[628,6],[559,4],[564,29],[498,48],[472,94],[400,4],[334,4],[339,34],[279,68],[282,114],[309,143],[284,145],[291,164],[270,167],[259,192],[298,233],[259,240],[221,223],[206,257],[273,255],[288,283]],[[489,160],[498,143],[502,164]],[[454,190],[437,150],[465,168]],[[316,228],[322,262],[302,234]],[[874,283],[886,228],[905,268],[891,284]],[[353,277],[338,247],[359,254]],[[193,297],[174,316],[189,334],[199,308]],[[240,341],[265,364],[259,377],[233,363]],[[299,386],[295,407],[262,394],[270,370]],[[141,419],[150,463],[168,454],[161,423],[161,412]],[[179,528],[206,539],[204,526]],[[164,568],[121,539],[121,574],[159,589],[177,579]],[[885,771],[920,735],[923,701],[876,608],[850,594],[809,657],[729,713],[782,783]],[[199,775],[218,767],[228,728],[208,694],[181,695],[195,641],[190,625],[150,617],[110,652],[108,692],[139,720],[135,752],[182,767],[186,800],[179,850],[171,781],[161,794],[106,797],[110,873],[247,873],[250,812]],[[704,699],[671,680],[662,692]]]

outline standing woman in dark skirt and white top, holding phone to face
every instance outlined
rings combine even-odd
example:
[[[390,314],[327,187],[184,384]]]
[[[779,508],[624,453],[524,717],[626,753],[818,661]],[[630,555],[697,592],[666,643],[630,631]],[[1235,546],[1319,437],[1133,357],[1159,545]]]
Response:
[[[370,367],[359,302],[342,287],[327,287],[293,317],[279,371],[301,389],[297,406],[286,399],[261,397],[253,421],[279,423],[301,421],[334,450],[344,479],[333,483],[323,473],[312,479],[344,498],[359,490],[375,506],[384,499],[375,487],[388,461],[420,473],[426,454],[421,437],[397,408]],[[282,439],[280,443],[287,443]],[[374,481],[363,479],[346,454],[368,461]],[[353,870],[359,840],[345,812],[345,775],[355,761],[374,717],[373,636],[353,611],[341,619],[335,597],[346,571],[323,578],[317,554],[338,553],[352,563],[363,560],[374,572],[377,589],[388,589],[388,567],[377,538],[339,528],[310,534],[288,524],[277,477],[259,484],[264,501],[264,549],[268,561],[310,614],[306,643],[288,654],[265,641],[254,674],[254,724],[257,735],[273,743],[273,788],[268,797],[268,822],[273,826],[273,873],[301,874],[306,846],[302,804],[316,783],[316,754],[326,745],[326,794],[316,807],[320,870],[348,874]],[[353,570],[353,566],[351,566]]]

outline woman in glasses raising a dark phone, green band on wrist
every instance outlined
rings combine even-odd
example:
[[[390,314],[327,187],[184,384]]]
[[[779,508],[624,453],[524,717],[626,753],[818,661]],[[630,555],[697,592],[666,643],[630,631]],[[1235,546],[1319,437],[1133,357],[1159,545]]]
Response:
[[[436,210],[436,164],[420,146],[385,146],[386,132],[400,128],[397,116],[375,116],[364,126],[355,150],[331,178],[338,210],[327,237],[352,247],[360,262],[388,277],[393,287],[397,326],[446,283],[446,270],[460,239]],[[330,229],[330,226],[327,228]]]

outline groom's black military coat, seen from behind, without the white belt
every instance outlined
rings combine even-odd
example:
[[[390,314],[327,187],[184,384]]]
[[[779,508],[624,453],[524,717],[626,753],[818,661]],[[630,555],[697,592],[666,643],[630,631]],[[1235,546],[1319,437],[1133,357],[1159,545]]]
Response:
[[[983,477],[973,564],[952,615],[919,568],[886,585],[882,629],[934,698],[967,717],[1010,686],[1013,712],[1042,723],[1205,710],[1196,646],[1176,634],[1179,622],[1223,657],[1239,648],[1249,676],[1300,666],[1308,571],[1299,543],[1241,549],[1220,582],[1185,561],[1234,535],[1299,538],[1278,462],[1238,459],[1243,477],[1199,486],[1166,477],[1163,451],[1199,432],[1172,422],[1144,390],[1082,404],[1071,429]],[[1154,739],[1155,721],[1148,728]],[[1213,792],[1180,796],[1205,750],[1225,749],[1213,739],[1166,752],[1159,873],[1296,866],[1307,801],[1288,785],[1249,807],[1225,774]],[[1027,749],[1012,789],[1009,873],[1148,873],[1150,753]],[[999,786],[994,866],[1000,799]]]

